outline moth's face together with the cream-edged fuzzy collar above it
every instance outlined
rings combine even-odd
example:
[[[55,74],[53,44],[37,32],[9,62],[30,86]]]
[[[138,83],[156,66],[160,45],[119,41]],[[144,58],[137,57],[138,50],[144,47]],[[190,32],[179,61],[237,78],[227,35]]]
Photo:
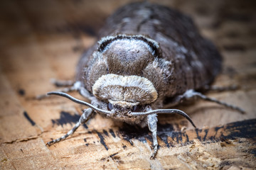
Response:
[[[107,110],[118,115],[144,111],[144,106],[157,99],[157,91],[148,79],[117,74],[105,74],[97,79],[92,94],[107,103]]]

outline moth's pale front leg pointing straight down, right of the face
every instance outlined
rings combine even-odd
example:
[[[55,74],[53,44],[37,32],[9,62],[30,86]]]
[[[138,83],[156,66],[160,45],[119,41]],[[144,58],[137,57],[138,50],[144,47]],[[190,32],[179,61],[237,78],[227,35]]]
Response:
[[[157,143],[157,137],[156,137],[156,132],[157,132],[156,114],[148,115],[147,120],[148,120],[149,130],[152,132],[153,147],[154,147],[154,151],[153,151],[153,154],[151,154],[150,159],[154,159],[154,157],[156,156],[157,149],[158,149],[158,143]]]

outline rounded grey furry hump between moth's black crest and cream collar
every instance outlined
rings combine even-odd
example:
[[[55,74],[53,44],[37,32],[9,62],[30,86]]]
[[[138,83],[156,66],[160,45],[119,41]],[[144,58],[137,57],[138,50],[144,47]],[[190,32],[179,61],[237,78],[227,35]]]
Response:
[[[137,75],[154,60],[151,47],[142,40],[114,40],[102,55],[112,74]]]

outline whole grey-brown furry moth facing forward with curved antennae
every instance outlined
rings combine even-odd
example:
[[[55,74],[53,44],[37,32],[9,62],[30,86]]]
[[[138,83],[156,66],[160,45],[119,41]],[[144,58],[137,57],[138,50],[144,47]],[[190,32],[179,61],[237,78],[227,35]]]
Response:
[[[183,13],[146,1],[128,4],[107,19],[98,38],[80,58],[75,82],[48,93],[88,108],[72,130],[46,145],[65,140],[92,113],[100,113],[142,128],[148,125],[154,158],[158,114],[183,115],[196,128],[186,113],[172,108],[181,101],[197,96],[243,112],[197,91],[210,85],[220,72],[222,57]],[[68,91],[79,91],[91,103],[73,98]],[[171,109],[163,109],[166,106]]]

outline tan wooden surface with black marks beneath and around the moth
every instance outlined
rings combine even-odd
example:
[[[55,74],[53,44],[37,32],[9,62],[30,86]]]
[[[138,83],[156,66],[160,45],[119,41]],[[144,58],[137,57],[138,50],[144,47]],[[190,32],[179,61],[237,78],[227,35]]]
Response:
[[[246,114],[206,101],[159,115],[159,152],[150,160],[151,133],[96,115],[51,147],[79,119],[82,106],[58,96],[51,78],[73,79],[82,51],[118,6],[129,1],[2,1],[0,6],[0,169],[255,169],[256,16],[253,1],[159,1],[190,15],[224,57],[214,84],[240,89],[208,96]],[[81,98],[79,94],[73,96]],[[85,99],[83,99],[85,100]]]

